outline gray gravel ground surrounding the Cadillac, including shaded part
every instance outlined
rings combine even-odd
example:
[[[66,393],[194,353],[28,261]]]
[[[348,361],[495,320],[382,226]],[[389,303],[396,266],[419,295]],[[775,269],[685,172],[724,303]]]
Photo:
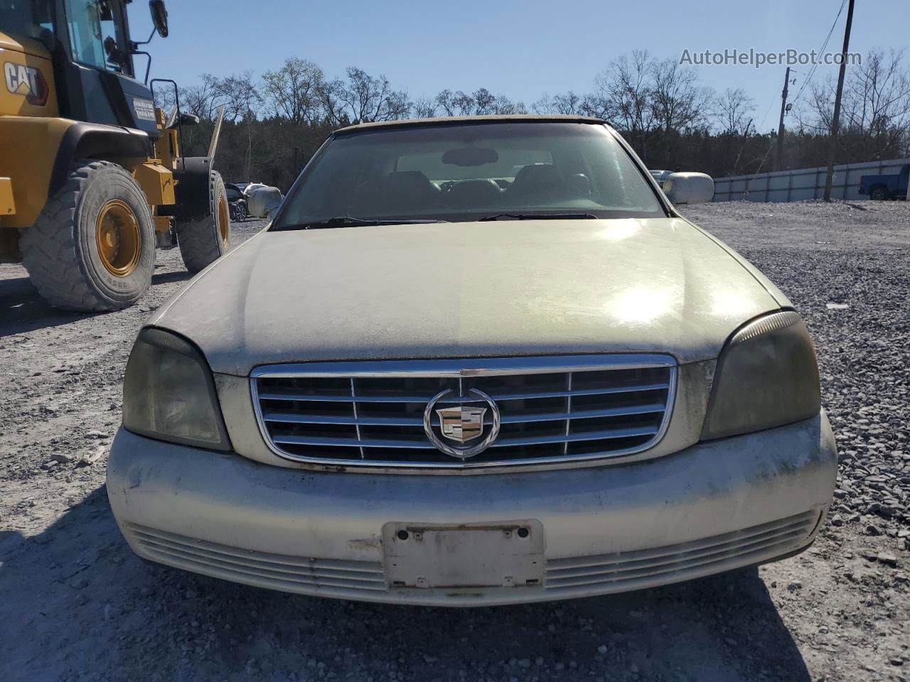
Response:
[[[46,306],[0,266],[0,679],[910,678],[910,204],[712,204],[688,216],[791,297],[842,456],[809,551],[673,587],[528,607],[289,597],[147,566],[107,506],[130,310]],[[238,226],[242,241],[260,224]]]

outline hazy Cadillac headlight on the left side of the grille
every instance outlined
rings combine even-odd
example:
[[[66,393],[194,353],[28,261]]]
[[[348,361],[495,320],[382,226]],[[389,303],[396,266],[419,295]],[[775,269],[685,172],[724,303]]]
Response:
[[[148,327],[126,363],[123,426],[142,436],[229,450],[215,381],[196,346]]]

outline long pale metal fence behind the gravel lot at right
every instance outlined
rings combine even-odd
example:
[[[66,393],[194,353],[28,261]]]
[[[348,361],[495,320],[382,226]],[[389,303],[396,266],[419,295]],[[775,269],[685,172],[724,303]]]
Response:
[[[831,196],[845,200],[867,199],[868,196],[859,193],[861,176],[896,175],[905,164],[910,164],[910,158],[835,165]],[[713,201],[784,202],[821,199],[824,196],[826,172],[827,168],[822,166],[759,173],[754,176],[715,177]]]

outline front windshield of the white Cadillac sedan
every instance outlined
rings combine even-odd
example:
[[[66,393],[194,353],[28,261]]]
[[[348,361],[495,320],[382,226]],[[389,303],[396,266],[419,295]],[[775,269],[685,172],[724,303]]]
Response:
[[[509,122],[339,135],[307,166],[275,228],[339,216],[465,221],[548,213],[666,216],[603,125]]]

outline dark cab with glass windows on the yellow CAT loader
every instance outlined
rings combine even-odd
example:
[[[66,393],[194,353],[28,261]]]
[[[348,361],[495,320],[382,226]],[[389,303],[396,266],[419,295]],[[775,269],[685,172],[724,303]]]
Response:
[[[141,80],[145,73],[136,78],[137,45],[126,13],[130,4],[131,0],[0,0],[2,30],[43,44],[50,52],[60,116],[157,136],[152,92]],[[163,3],[155,5],[163,10]],[[46,80],[51,82],[50,77]]]

